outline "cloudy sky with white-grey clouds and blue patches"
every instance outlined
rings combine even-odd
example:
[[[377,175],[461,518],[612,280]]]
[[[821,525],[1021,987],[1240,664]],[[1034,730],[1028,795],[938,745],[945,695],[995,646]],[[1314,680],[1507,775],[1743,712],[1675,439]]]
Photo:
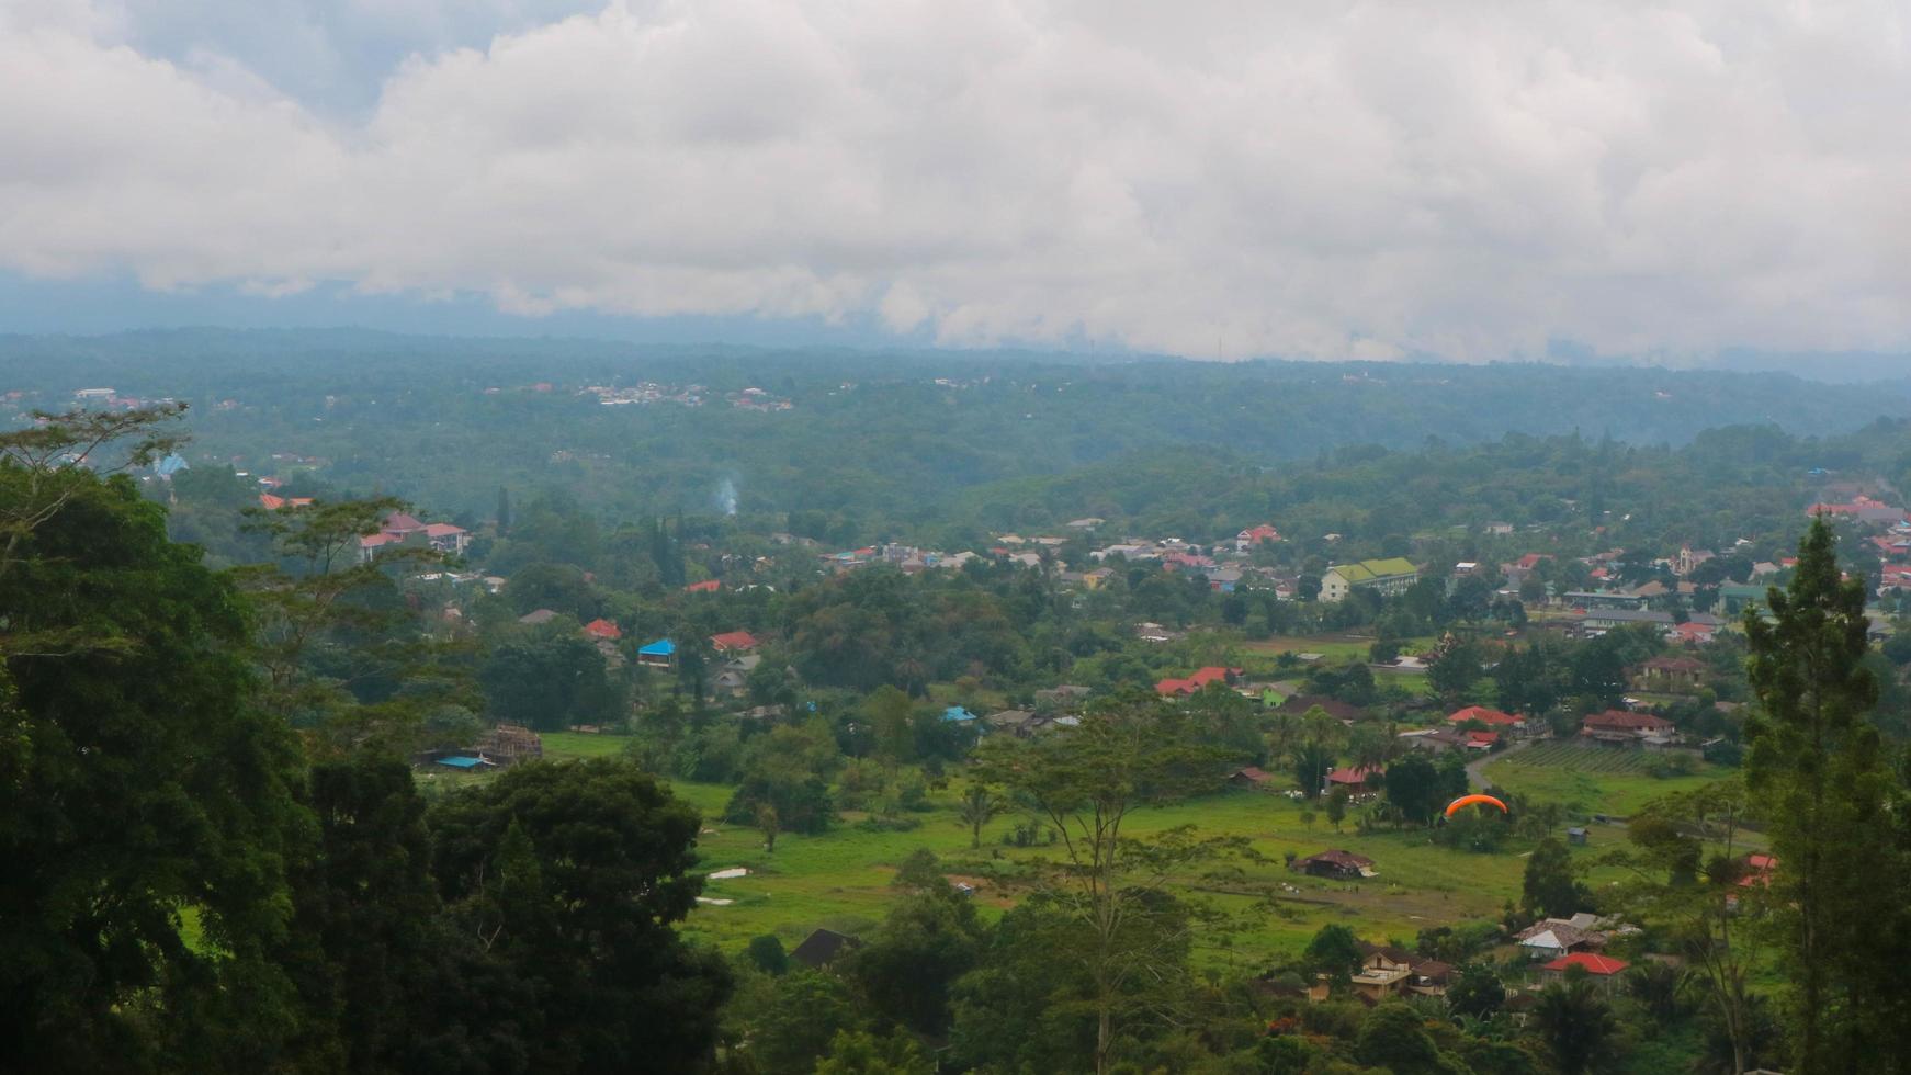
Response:
[[[1907,11],[0,0],[0,330],[1905,351]]]

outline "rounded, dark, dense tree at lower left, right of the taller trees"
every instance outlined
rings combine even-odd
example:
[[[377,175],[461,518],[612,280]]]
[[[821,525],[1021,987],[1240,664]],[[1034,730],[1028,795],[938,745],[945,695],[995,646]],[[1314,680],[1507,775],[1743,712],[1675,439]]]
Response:
[[[696,1067],[730,989],[671,926],[701,876],[698,812],[617,760],[522,764],[430,813],[434,873],[466,936],[539,981],[539,1069]]]

